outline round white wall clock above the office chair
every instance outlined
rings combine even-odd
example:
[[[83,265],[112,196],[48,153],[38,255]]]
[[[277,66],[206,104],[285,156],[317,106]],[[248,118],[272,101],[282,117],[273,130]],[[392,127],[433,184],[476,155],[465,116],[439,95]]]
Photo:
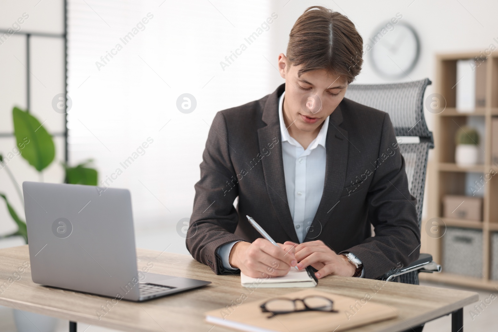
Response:
[[[420,43],[415,30],[398,22],[393,29],[384,26],[375,30],[368,40],[375,71],[383,77],[401,78],[408,75],[418,61]]]

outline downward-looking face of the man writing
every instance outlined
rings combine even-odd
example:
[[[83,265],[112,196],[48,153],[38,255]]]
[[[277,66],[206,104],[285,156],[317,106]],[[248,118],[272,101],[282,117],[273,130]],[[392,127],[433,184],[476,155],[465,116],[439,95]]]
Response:
[[[316,131],[343,100],[348,88],[347,79],[329,74],[325,69],[298,77],[302,65],[289,68],[283,54],[279,56],[278,65],[280,76],[285,79],[285,116],[299,130]]]

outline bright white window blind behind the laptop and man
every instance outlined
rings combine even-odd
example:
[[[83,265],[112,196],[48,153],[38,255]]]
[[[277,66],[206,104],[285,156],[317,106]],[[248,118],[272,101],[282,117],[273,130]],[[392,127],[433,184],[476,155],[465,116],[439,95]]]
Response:
[[[135,224],[189,218],[216,112],[276,89],[269,17],[264,0],[68,0],[69,160],[128,188]]]

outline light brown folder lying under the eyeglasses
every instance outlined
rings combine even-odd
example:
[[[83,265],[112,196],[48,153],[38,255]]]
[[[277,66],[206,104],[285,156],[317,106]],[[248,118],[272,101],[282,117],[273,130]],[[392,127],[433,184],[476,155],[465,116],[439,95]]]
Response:
[[[225,308],[207,312],[206,321],[250,332],[339,332],[397,316],[396,312],[389,306],[373,302],[374,293],[365,294],[362,299],[354,299],[308,289],[288,293],[278,296],[278,298],[302,299],[309,295],[319,295],[331,299],[334,301],[333,309],[338,312],[307,311],[273,316],[270,313],[261,312],[259,307],[271,298],[245,303],[244,301],[250,299],[249,295],[240,298],[241,304],[233,302]]]

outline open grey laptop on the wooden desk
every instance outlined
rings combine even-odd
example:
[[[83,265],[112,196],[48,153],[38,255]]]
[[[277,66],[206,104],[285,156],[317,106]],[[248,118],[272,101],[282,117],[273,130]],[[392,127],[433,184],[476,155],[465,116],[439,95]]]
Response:
[[[131,195],[126,189],[24,182],[33,282],[144,301],[210,284],[137,270]]]

